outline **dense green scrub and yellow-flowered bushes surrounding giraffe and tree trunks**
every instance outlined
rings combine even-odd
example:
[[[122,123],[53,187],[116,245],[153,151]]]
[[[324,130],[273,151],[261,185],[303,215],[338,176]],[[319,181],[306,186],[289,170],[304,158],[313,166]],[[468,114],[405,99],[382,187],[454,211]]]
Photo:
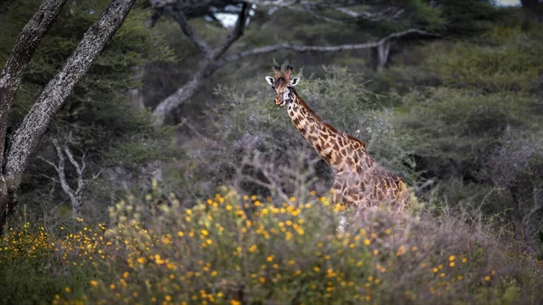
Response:
[[[38,3],[0,3],[0,62]],[[543,34],[520,8],[438,3],[407,2],[395,24],[256,9],[234,49],[275,34],[339,44],[420,26],[442,36],[395,42],[380,72],[367,50],[233,62],[178,110],[175,131],[141,106],[189,80],[200,54],[170,20],[146,27],[152,12],[138,3],[25,176],[0,241],[0,303],[543,302]],[[78,4],[34,55],[13,126],[107,1]],[[216,20],[194,24],[210,40],[225,31]],[[263,79],[278,62],[295,65],[310,107],[366,142],[418,205],[395,217],[329,204],[329,167]],[[75,220],[46,162],[57,162],[52,138],[89,157]],[[72,169],[67,176],[74,183]]]

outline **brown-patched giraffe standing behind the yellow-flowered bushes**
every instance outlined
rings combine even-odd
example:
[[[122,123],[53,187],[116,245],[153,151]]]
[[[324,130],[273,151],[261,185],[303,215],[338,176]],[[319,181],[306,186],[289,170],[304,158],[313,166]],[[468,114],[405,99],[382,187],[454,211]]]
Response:
[[[292,69],[287,65],[283,73],[281,67],[275,67],[275,77],[266,76],[266,81],[275,91],[275,104],[287,107],[294,127],[332,167],[335,174],[330,189],[332,202],[355,206],[358,210],[389,204],[396,213],[403,211],[411,194],[402,178],[379,166],[367,153],[364,142],[320,119],[294,89],[300,78],[291,78]]]

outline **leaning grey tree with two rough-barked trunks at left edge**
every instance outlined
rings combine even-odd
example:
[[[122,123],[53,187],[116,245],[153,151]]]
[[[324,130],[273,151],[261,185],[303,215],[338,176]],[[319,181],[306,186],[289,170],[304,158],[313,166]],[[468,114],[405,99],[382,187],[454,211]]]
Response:
[[[81,43],[34,101],[13,137],[6,138],[7,121],[19,90],[24,68],[51,28],[66,0],[44,0],[24,26],[0,74],[0,234],[17,205],[17,190],[29,158],[54,115],[74,86],[89,70],[111,36],[117,32],[136,0],[112,0],[100,19],[84,34]]]

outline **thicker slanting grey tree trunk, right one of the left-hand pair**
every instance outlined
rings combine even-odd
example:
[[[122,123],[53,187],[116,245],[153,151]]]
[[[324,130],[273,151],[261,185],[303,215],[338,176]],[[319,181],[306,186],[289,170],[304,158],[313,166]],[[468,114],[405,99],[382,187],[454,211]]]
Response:
[[[53,116],[61,109],[64,100],[71,94],[75,85],[81,81],[81,78],[89,70],[90,64],[110,41],[111,36],[117,32],[135,1],[113,0],[111,2],[105,12],[101,14],[100,19],[92,24],[84,34],[81,43],[71,53],[61,70],[45,86],[21,126],[15,131],[5,157],[3,176],[0,179],[0,183],[5,184],[5,186],[0,186],[0,192],[3,192],[0,194],[0,234],[8,214],[14,210],[17,204],[14,195],[21,183],[21,177],[27,167],[29,157],[49,127]],[[41,15],[41,12],[38,12],[37,15]],[[17,50],[17,45],[14,49]],[[13,56],[16,54],[12,53],[10,57]],[[8,62],[10,62],[9,59]]]

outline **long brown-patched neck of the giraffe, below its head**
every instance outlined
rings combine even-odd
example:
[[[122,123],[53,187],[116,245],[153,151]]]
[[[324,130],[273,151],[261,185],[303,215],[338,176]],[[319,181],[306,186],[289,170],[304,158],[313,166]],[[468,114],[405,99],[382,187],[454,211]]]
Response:
[[[287,106],[287,113],[300,134],[315,149],[336,173],[348,167],[358,174],[372,167],[374,161],[367,154],[365,144],[357,138],[338,132],[317,113],[310,109],[304,100],[294,91],[295,99]]]

